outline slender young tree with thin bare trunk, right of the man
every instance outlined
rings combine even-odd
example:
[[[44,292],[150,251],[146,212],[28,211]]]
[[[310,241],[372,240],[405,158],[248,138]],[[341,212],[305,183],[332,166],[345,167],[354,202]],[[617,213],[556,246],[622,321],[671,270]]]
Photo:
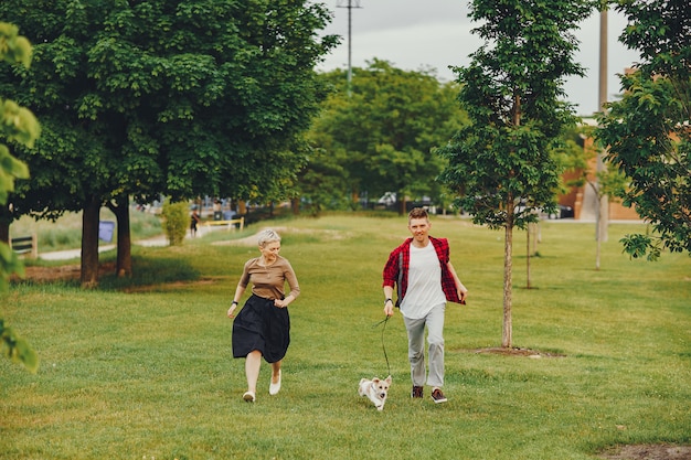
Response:
[[[583,75],[572,34],[592,3],[474,0],[470,18],[485,44],[456,67],[471,124],[439,149],[442,179],[477,224],[504,231],[502,346],[512,344],[513,228],[554,210],[560,169],[551,151],[575,122],[559,98],[564,78]]]

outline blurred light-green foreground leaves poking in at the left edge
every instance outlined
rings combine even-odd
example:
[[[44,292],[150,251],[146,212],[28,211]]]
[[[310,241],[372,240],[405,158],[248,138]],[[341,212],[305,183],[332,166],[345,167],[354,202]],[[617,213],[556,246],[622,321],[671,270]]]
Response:
[[[19,63],[29,67],[31,64],[31,44],[19,35],[15,25],[0,22],[0,61]],[[10,99],[0,97],[0,139],[33,146],[40,133],[40,125],[33,114]],[[6,205],[8,194],[14,190],[15,179],[26,179],[29,169],[12,157],[8,146],[0,143],[0,204]],[[24,275],[24,266],[17,254],[9,247],[8,235],[0,242],[0,292],[7,293],[11,275]],[[7,300],[7,296],[3,296]],[[29,342],[20,336],[0,318],[0,353],[10,360],[21,362],[31,371],[39,368],[39,357]]]

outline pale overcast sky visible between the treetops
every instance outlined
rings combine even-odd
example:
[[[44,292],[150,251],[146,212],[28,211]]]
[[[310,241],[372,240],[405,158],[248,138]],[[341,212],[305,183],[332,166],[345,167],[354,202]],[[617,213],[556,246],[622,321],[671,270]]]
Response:
[[[318,66],[320,71],[348,68],[349,0],[323,0],[333,12],[333,21],[325,33],[342,36],[341,44]],[[469,63],[468,55],[481,41],[471,34],[468,19],[469,0],[350,0],[352,66],[364,67],[378,57],[406,71],[434,68],[443,81],[455,79],[448,68]],[[620,93],[617,73],[638,60],[638,54],[617,41],[626,26],[623,15],[608,13],[607,98]],[[586,68],[584,78],[572,77],[564,88],[567,100],[577,106],[578,115],[592,115],[598,105],[599,13],[584,19],[576,32],[581,51],[576,62]]]

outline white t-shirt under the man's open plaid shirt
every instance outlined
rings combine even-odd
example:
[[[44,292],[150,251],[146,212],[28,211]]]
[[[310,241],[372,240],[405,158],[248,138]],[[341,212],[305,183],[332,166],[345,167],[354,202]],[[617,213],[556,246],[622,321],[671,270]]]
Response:
[[[401,302],[401,313],[417,320],[444,303],[446,296],[442,289],[442,266],[434,245],[429,242],[421,248],[411,244],[408,286]]]

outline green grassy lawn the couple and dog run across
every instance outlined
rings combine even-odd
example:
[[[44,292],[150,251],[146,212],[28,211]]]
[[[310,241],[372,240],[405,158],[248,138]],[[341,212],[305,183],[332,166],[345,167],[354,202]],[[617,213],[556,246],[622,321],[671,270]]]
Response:
[[[621,254],[640,225],[613,224],[595,267],[594,225],[544,222],[525,289],[515,233],[514,345],[559,357],[477,353],[501,343],[499,232],[435,217],[470,290],[446,313],[449,402],[410,398],[405,330],[383,320],[381,269],[407,236],[401,217],[277,221],[302,295],[290,307],[284,385],[242,400],[244,361],[225,317],[252,235],[136,247],[135,276],[98,291],[13,287],[1,314],[41,356],[0,360],[1,459],[596,459],[628,443],[691,441],[691,258]],[[103,259],[113,254],[102,256]],[[393,385],[378,411],[361,377]]]

